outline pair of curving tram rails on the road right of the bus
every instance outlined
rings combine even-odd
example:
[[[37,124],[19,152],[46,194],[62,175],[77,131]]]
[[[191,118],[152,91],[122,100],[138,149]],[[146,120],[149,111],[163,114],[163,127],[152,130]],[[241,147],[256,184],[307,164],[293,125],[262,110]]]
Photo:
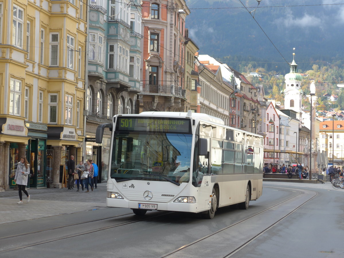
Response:
[[[271,186],[267,186],[267,187],[271,187]],[[275,188],[275,187],[271,187],[271,188]],[[209,238],[211,238],[211,237],[214,237],[214,236],[216,236],[216,235],[219,235],[220,233],[224,232],[224,231],[227,230],[227,229],[230,229],[230,228],[233,228],[233,227],[238,226],[238,225],[240,225],[240,224],[243,224],[243,223],[249,221],[249,220],[252,219],[252,218],[255,218],[255,217],[259,216],[259,215],[262,215],[262,214],[264,214],[264,213],[266,213],[266,212],[268,212],[268,211],[271,211],[272,209],[274,209],[274,208],[276,208],[276,207],[278,207],[278,206],[280,206],[280,205],[282,205],[282,204],[284,204],[284,203],[286,203],[286,202],[288,202],[288,201],[290,201],[290,200],[293,200],[294,198],[297,198],[297,197],[299,197],[300,195],[302,195],[302,194],[304,193],[304,191],[299,190],[299,189],[294,189],[294,190],[300,191],[300,193],[297,194],[297,195],[295,195],[295,196],[292,196],[292,197],[290,197],[290,198],[288,198],[288,199],[286,199],[286,200],[284,200],[284,201],[281,201],[281,202],[279,202],[279,203],[277,203],[277,204],[274,204],[274,205],[272,205],[272,206],[270,206],[270,207],[268,207],[268,208],[266,208],[266,209],[264,209],[264,210],[262,210],[262,211],[260,211],[260,212],[258,212],[258,213],[256,213],[256,214],[253,214],[253,215],[251,215],[251,216],[249,216],[249,217],[247,217],[247,218],[241,219],[240,221],[237,221],[237,222],[235,222],[235,223],[233,223],[233,224],[231,224],[231,225],[229,225],[229,226],[223,227],[223,228],[217,230],[216,232],[213,232],[213,233],[208,234],[208,235],[206,235],[206,236],[204,236],[204,237],[201,237],[201,238],[199,238],[199,239],[197,239],[197,240],[195,240],[195,241],[193,241],[193,242],[191,242],[191,243],[189,243],[189,244],[183,245],[182,247],[180,247],[180,248],[178,248],[178,249],[175,249],[175,250],[173,250],[173,251],[171,251],[171,252],[168,252],[168,253],[166,253],[166,254],[164,254],[164,255],[162,255],[162,256],[159,256],[158,258],[165,258],[165,257],[182,257],[182,256],[180,256],[180,255],[181,255],[181,252],[182,252],[182,251],[185,251],[187,248],[193,247],[193,246],[195,246],[195,245],[197,245],[197,244],[201,244],[201,243],[203,243],[204,240],[207,240],[207,239],[209,239]],[[290,212],[288,212],[287,214],[285,214],[284,216],[282,216],[281,218],[279,218],[277,221],[275,221],[275,222],[272,223],[271,225],[267,226],[266,228],[260,230],[260,232],[254,234],[254,235],[253,235],[252,237],[250,237],[249,239],[243,241],[243,243],[241,243],[239,246],[237,246],[236,248],[234,248],[233,250],[231,250],[230,252],[228,252],[226,255],[221,256],[221,257],[222,257],[222,258],[228,258],[228,257],[234,255],[236,252],[238,252],[239,250],[241,250],[242,248],[244,248],[245,246],[247,246],[247,245],[248,245],[249,243],[251,243],[253,240],[255,240],[256,238],[258,238],[259,236],[261,236],[262,234],[264,234],[264,233],[265,233],[266,231],[268,231],[270,228],[272,228],[273,226],[275,226],[276,224],[278,224],[279,222],[281,222],[284,218],[288,217],[290,214],[292,214],[293,212],[297,211],[297,209],[299,209],[299,208],[300,208],[301,206],[303,206],[305,203],[311,201],[315,196],[318,195],[318,192],[311,191],[311,190],[308,190],[308,191],[309,191],[309,192],[314,192],[315,195],[312,196],[311,198],[309,198],[307,201],[301,203],[301,204],[298,205],[297,207],[293,208]]]

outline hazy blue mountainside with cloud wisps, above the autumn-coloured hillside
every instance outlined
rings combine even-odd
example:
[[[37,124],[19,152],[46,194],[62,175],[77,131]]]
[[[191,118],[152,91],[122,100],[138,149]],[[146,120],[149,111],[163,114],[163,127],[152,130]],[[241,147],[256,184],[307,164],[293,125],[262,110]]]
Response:
[[[219,60],[229,56],[228,59],[248,61],[250,57],[253,61],[269,62],[268,69],[281,68],[284,72],[293,52],[303,71],[313,63],[301,67],[302,62],[344,60],[344,4],[340,4],[343,1],[262,0],[257,9],[256,0],[241,0],[247,9],[240,0],[186,2],[191,10],[186,26],[189,37],[200,47],[200,54]],[[238,63],[229,65],[236,68]]]

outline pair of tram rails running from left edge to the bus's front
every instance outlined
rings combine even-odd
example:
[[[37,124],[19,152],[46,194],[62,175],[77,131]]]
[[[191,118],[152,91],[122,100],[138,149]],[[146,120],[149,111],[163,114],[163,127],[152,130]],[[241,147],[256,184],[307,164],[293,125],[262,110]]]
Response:
[[[141,221],[146,221],[146,220],[149,220],[149,219],[152,219],[152,218],[161,217],[161,216],[164,216],[164,215],[167,215],[167,214],[171,214],[171,213],[173,213],[173,212],[165,212],[165,213],[162,213],[162,214],[158,214],[158,215],[154,215],[154,216],[150,216],[150,217],[145,217],[145,218],[141,218],[141,219],[136,219],[136,220],[132,220],[132,221],[128,221],[128,222],[118,223],[118,224],[111,225],[111,226],[95,228],[95,229],[92,229],[92,230],[86,230],[86,231],[79,232],[79,233],[73,233],[73,234],[69,234],[69,235],[65,235],[65,236],[60,236],[60,237],[55,237],[55,238],[51,238],[51,239],[46,239],[46,240],[42,240],[42,241],[39,241],[39,242],[34,242],[34,243],[30,243],[30,244],[24,244],[24,245],[15,246],[15,247],[3,249],[3,250],[0,249],[0,253],[1,252],[7,252],[7,251],[13,251],[13,250],[19,250],[19,249],[23,249],[23,248],[27,248],[27,247],[32,247],[32,246],[37,246],[37,245],[42,245],[42,244],[51,243],[51,242],[54,242],[54,241],[68,239],[68,238],[72,238],[72,237],[82,236],[82,235],[86,235],[86,234],[90,234],[90,233],[94,233],[94,232],[98,232],[98,231],[106,230],[106,229],[110,229],[110,228],[125,226],[125,225],[129,225],[129,224],[133,224],[133,223],[137,223],[137,222],[141,222]],[[49,231],[49,230],[55,230],[55,229],[60,229],[60,228],[68,227],[68,226],[75,226],[75,225],[80,225],[80,224],[85,224],[85,223],[91,223],[91,222],[94,222],[94,221],[101,221],[101,220],[104,220],[104,219],[110,219],[110,218],[130,215],[130,214],[132,214],[132,213],[122,214],[122,215],[117,215],[117,216],[112,216],[112,217],[107,217],[107,218],[103,218],[103,219],[96,219],[96,220],[88,221],[88,222],[81,222],[81,223],[69,224],[69,225],[64,225],[64,226],[59,226],[59,227],[54,227],[54,228],[47,228],[47,229],[44,229],[44,230],[37,230],[36,232],[29,232],[29,233],[18,234],[18,235],[13,235],[13,236],[8,236],[8,237],[2,237],[2,238],[0,238],[0,240],[1,239],[8,239],[8,238],[13,238],[13,237],[24,236],[24,235],[28,235],[28,234],[37,234],[37,233],[41,233],[41,232],[45,232],[45,231]]]

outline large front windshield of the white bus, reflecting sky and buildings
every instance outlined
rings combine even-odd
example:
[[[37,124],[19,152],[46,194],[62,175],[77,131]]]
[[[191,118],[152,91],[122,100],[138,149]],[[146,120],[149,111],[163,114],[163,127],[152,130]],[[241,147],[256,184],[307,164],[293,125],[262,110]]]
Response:
[[[115,132],[110,177],[117,182],[189,182],[191,143],[191,134]]]

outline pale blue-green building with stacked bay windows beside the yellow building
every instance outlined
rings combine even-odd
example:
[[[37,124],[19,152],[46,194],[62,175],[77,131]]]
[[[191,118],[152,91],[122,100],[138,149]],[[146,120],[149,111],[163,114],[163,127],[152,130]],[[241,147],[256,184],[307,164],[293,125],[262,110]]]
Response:
[[[140,1],[92,0],[89,7],[88,72],[85,96],[85,160],[99,168],[106,180],[110,148],[107,129],[103,143],[95,143],[100,123],[111,123],[117,114],[138,113],[137,94],[142,90],[142,26]]]

